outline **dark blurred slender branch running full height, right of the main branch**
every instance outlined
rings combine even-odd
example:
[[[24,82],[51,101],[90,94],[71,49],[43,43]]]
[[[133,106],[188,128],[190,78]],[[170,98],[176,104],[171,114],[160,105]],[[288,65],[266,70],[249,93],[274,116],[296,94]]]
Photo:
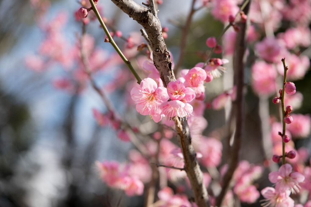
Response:
[[[247,0],[244,0],[246,2]],[[244,13],[248,14],[250,1],[244,8]],[[244,130],[244,66],[245,66],[245,50],[246,50],[246,22],[239,23],[240,30],[237,35],[235,52],[234,52],[234,85],[236,85],[236,100],[233,103],[232,110],[235,111],[235,123],[236,130],[234,134],[234,142],[231,150],[231,159],[229,168],[223,178],[223,186],[219,196],[216,199],[216,206],[221,206],[226,192],[228,190],[231,178],[233,176],[234,170],[236,169],[239,161],[239,149],[241,145],[241,139]]]

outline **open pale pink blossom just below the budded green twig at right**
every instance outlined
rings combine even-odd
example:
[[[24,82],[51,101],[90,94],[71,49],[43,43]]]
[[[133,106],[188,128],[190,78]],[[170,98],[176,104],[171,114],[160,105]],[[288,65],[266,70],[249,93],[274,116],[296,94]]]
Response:
[[[279,171],[269,173],[269,180],[276,183],[276,189],[280,192],[290,189],[292,193],[298,193],[299,183],[304,181],[304,176],[298,172],[292,173],[292,170],[290,164],[283,164]]]

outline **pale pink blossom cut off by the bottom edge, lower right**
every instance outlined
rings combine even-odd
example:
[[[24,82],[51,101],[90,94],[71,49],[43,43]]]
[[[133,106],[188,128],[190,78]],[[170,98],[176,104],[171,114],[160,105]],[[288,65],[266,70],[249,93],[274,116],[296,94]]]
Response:
[[[289,197],[289,190],[279,192],[273,187],[265,187],[261,190],[261,194],[265,198],[262,203],[263,207],[294,207],[294,200]]]

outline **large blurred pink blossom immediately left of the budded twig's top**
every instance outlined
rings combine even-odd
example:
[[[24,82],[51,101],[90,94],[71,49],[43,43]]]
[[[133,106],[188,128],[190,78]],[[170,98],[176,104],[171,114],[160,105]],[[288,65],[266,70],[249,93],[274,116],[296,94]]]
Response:
[[[252,66],[253,90],[261,95],[270,95],[276,90],[276,70],[272,64],[258,61]]]

